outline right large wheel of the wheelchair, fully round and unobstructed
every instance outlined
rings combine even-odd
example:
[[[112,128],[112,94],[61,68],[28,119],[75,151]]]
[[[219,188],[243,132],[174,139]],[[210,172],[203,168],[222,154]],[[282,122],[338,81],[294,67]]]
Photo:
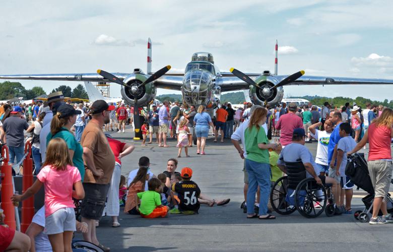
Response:
[[[326,190],[314,178],[303,179],[296,187],[295,205],[297,211],[306,218],[319,216],[326,208]],[[315,207],[316,203],[319,207]]]

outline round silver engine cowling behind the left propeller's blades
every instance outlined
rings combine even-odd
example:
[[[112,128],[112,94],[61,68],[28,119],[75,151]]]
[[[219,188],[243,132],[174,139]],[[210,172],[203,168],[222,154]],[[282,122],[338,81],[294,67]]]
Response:
[[[139,86],[146,80],[147,77],[141,74],[133,74],[124,79],[124,83],[129,87],[121,86],[120,92],[126,104],[134,106],[135,98],[137,98],[139,106],[146,106],[154,100],[157,91],[152,82],[140,87],[137,94],[131,92],[131,87]]]

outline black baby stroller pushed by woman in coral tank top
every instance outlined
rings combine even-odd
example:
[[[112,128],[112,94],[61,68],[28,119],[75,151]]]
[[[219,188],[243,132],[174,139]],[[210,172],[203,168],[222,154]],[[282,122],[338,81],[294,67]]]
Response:
[[[360,222],[369,222],[372,213],[372,203],[374,201],[374,186],[372,186],[371,179],[368,173],[367,162],[363,153],[355,153],[348,157],[345,174],[351,178],[351,181],[362,190],[366,191],[368,195],[362,198],[364,204],[363,210],[358,210],[354,213],[355,219]],[[393,212],[393,200],[390,195],[386,196],[387,212]],[[382,214],[381,212],[379,214]]]

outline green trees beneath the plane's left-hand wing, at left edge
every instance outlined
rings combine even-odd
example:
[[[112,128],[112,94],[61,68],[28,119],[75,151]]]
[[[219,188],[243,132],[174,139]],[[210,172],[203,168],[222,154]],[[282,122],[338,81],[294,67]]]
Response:
[[[31,100],[46,94],[42,87],[36,86],[32,89],[26,89],[19,82],[0,82],[0,87],[0,100],[10,100],[14,97],[23,97],[24,100]],[[82,84],[79,84],[74,89],[71,89],[69,86],[61,85],[53,89],[51,93],[58,91],[61,91],[64,97],[89,99],[85,87]]]

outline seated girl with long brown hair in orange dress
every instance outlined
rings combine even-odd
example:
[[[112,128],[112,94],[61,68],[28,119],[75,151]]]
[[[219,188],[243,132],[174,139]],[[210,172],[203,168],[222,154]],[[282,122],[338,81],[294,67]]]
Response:
[[[139,204],[137,193],[145,191],[145,182],[149,180],[147,166],[140,166],[137,175],[128,186],[127,200],[125,201],[124,213],[139,215],[137,206]]]

